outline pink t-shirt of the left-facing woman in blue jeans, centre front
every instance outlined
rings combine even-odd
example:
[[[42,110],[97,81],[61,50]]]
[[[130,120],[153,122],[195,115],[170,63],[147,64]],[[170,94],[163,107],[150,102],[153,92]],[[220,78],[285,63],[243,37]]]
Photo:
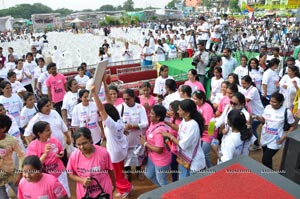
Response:
[[[163,147],[163,152],[158,154],[151,150],[148,150],[148,156],[151,158],[155,166],[167,166],[171,163],[171,153],[167,150],[164,143],[164,137],[161,132],[167,132],[164,122],[157,124],[151,123],[150,127],[146,131],[147,142],[156,147]]]

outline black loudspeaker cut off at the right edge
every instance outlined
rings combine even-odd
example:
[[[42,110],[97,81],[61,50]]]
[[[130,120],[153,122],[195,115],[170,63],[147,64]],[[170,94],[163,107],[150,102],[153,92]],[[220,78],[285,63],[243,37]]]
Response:
[[[300,184],[300,132],[299,129],[288,134],[280,165],[281,174]]]

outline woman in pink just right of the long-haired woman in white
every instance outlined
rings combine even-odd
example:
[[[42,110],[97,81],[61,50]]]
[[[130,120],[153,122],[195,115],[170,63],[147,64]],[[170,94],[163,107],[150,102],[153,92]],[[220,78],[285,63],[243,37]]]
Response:
[[[208,124],[210,120],[215,116],[212,105],[206,101],[206,96],[203,91],[196,91],[192,95],[192,99],[197,105],[197,110],[202,114],[204,118],[204,131],[202,133],[202,149],[205,155],[206,167],[211,167],[210,161],[210,144],[213,139],[212,135],[208,135]]]

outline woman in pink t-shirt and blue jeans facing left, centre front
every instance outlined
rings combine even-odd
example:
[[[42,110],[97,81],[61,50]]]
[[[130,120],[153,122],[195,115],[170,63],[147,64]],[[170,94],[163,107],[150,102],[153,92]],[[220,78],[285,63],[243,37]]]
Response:
[[[154,105],[150,112],[151,124],[146,131],[146,137],[141,136],[140,143],[148,152],[145,176],[157,186],[168,184],[167,171],[171,163],[171,153],[165,147],[162,132],[166,132],[164,119],[166,109],[162,105]]]

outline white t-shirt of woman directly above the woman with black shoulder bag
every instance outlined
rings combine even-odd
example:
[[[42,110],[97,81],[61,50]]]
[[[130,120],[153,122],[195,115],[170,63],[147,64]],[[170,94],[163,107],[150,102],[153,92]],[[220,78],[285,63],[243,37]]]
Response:
[[[279,76],[276,71],[268,69],[263,74],[262,84],[267,85],[267,95],[272,95],[277,91],[276,83],[279,82]],[[263,93],[264,94],[264,93]]]

